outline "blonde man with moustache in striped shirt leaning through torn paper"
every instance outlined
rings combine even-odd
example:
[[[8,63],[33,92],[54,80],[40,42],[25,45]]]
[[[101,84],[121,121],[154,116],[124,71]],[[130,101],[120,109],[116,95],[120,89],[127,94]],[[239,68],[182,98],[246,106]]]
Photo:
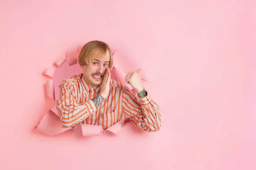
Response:
[[[100,125],[103,129],[125,119],[142,130],[158,131],[161,126],[159,106],[145,91],[137,72],[128,73],[125,81],[137,92],[111,79],[113,57],[108,44],[102,41],[87,42],[78,58],[83,73],[64,79],[60,99],[56,101],[62,127],[75,127],[79,123]]]

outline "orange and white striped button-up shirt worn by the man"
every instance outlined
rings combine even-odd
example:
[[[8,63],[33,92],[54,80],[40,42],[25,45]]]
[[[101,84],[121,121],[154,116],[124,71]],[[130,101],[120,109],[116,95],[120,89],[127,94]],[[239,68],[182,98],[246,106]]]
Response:
[[[100,125],[103,129],[116,122],[122,125],[130,119],[145,131],[158,131],[161,126],[159,106],[150,98],[135,96],[131,90],[111,79],[114,87],[109,96],[96,108],[92,99],[100,93],[101,85],[92,87],[83,74],[64,79],[59,85],[60,98],[56,108],[62,127],[75,127],[79,123]]]

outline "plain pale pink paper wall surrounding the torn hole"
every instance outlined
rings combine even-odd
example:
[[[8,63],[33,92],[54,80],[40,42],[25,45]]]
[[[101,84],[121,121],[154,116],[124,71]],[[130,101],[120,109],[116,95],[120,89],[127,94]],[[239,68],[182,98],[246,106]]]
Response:
[[[253,0],[1,0],[0,169],[255,170],[255,8]],[[45,69],[90,40],[135,62],[128,71],[143,68],[160,131],[131,122],[118,136],[34,130],[54,105]]]

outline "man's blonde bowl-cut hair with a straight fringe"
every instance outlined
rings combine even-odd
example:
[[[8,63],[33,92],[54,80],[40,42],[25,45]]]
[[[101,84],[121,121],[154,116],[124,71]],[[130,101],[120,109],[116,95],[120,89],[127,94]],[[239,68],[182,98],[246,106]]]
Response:
[[[93,54],[98,54],[103,56],[106,54],[106,51],[109,51],[110,61],[108,67],[111,68],[113,65],[113,56],[112,51],[109,48],[108,44],[102,41],[94,40],[87,42],[81,49],[78,57],[78,63],[80,66],[88,65],[91,61]]]

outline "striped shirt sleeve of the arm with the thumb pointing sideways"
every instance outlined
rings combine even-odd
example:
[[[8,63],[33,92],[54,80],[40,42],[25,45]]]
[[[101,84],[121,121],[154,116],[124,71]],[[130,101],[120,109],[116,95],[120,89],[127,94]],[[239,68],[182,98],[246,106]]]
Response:
[[[160,108],[149,95],[136,97],[129,88],[122,94],[122,109],[126,118],[142,130],[154,132],[160,130]]]

